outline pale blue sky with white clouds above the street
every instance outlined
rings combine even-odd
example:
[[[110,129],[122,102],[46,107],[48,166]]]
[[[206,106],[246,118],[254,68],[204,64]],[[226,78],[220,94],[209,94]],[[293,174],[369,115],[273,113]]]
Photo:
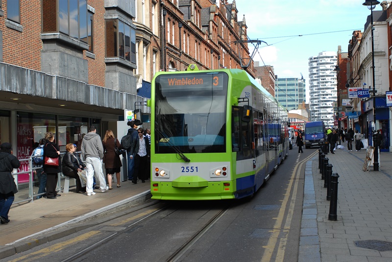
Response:
[[[228,1],[232,3],[232,0]],[[322,51],[347,52],[354,30],[364,32],[370,10],[365,0],[236,0],[238,20],[245,15],[250,40],[262,40],[253,60],[273,66],[278,77],[306,79],[309,57]],[[379,0],[382,2],[382,0]],[[374,9],[382,10],[380,4]],[[338,32],[340,31],[340,32]],[[302,35],[302,36],[299,36]],[[248,44],[249,48],[252,44]]]

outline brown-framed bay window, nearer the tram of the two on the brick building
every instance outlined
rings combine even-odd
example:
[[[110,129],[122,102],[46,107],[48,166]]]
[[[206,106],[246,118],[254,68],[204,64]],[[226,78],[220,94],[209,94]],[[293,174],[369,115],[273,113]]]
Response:
[[[136,32],[118,19],[106,20],[106,57],[120,57],[136,64]]]

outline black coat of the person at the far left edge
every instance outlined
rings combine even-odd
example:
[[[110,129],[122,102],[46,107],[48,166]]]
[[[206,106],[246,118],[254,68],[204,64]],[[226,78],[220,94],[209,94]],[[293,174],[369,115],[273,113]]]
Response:
[[[10,153],[0,152],[0,193],[8,194],[18,192],[12,170],[19,168],[21,163],[18,158]]]

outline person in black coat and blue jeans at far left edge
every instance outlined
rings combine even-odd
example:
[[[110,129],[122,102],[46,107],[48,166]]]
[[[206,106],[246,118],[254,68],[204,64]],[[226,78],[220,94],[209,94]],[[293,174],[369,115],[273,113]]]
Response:
[[[21,163],[12,154],[12,145],[2,143],[0,145],[0,220],[1,224],[9,222],[8,212],[18,192],[12,170],[19,168]]]

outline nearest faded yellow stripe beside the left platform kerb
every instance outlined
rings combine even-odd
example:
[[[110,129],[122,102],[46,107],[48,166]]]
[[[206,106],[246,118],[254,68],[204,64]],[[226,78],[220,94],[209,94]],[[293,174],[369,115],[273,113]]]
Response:
[[[80,236],[78,236],[76,238],[72,238],[72,239],[70,239],[68,241],[63,241],[63,242],[54,244],[54,245],[52,245],[50,247],[43,248],[43,249],[38,250],[36,252],[33,252],[31,254],[27,254],[27,255],[22,256],[20,258],[11,260],[9,262],[17,262],[17,261],[21,261],[21,260],[23,260],[24,262],[28,262],[28,261],[37,260],[39,258],[48,256],[48,255],[50,255],[50,254],[52,254],[54,252],[58,252],[58,251],[60,251],[60,250],[62,250],[64,248],[68,247],[69,245],[72,245],[74,243],[77,243],[77,242],[86,240],[88,238],[91,238],[92,236],[97,235],[99,233],[100,233],[100,231],[90,231],[90,232],[88,232],[86,234],[83,234],[83,235],[80,235]]]

